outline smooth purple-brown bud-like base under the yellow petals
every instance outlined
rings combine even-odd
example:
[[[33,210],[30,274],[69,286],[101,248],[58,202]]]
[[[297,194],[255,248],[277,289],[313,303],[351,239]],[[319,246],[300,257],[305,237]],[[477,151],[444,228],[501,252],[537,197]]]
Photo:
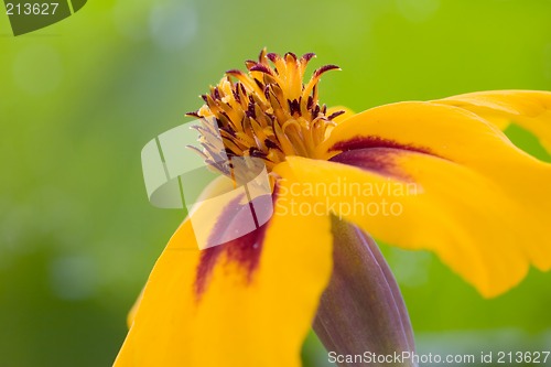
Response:
[[[358,227],[333,217],[334,269],[314,331],[337,355],[414,352],[413,331],[398,284],[377,244]],[[339,366],[380,366],[339,363]],[[389,366],[415,366],[411,360]]]

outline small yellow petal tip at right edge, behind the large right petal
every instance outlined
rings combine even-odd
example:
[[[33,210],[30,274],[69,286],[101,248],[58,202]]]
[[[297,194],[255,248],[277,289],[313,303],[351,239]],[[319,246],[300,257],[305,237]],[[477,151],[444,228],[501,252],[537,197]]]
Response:
[[[478,91],[433,102],[467,109],[488,119],[500,129],[505,129],[510,122],[518,123],[538,137],[551,153],[551,91]]]

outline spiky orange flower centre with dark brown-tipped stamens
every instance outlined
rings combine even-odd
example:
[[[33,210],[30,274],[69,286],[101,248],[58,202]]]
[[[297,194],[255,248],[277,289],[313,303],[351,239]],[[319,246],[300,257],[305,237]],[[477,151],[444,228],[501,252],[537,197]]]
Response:
[[[335,126],[333,119],[344,111],[327,114],[326,106],[317,100],[322,74],[338,66],[320,67],[307,84],[303,83],[306,65],[314,56],[280,56],[267,54],[264,48],[258,62],[245,63],[248,73],[226,72],[220,83],[202,96],[205,105],[187,114],[203,121],[196,127],[203,147],[197,151],[205,161],[219,162],[224,150],[228,159],[262,159],[271,171],[287,155],[316,158],[315,148]],[[208,118],[217,126],[208,123]],[[218,133],[223,144],[214,139]]]

